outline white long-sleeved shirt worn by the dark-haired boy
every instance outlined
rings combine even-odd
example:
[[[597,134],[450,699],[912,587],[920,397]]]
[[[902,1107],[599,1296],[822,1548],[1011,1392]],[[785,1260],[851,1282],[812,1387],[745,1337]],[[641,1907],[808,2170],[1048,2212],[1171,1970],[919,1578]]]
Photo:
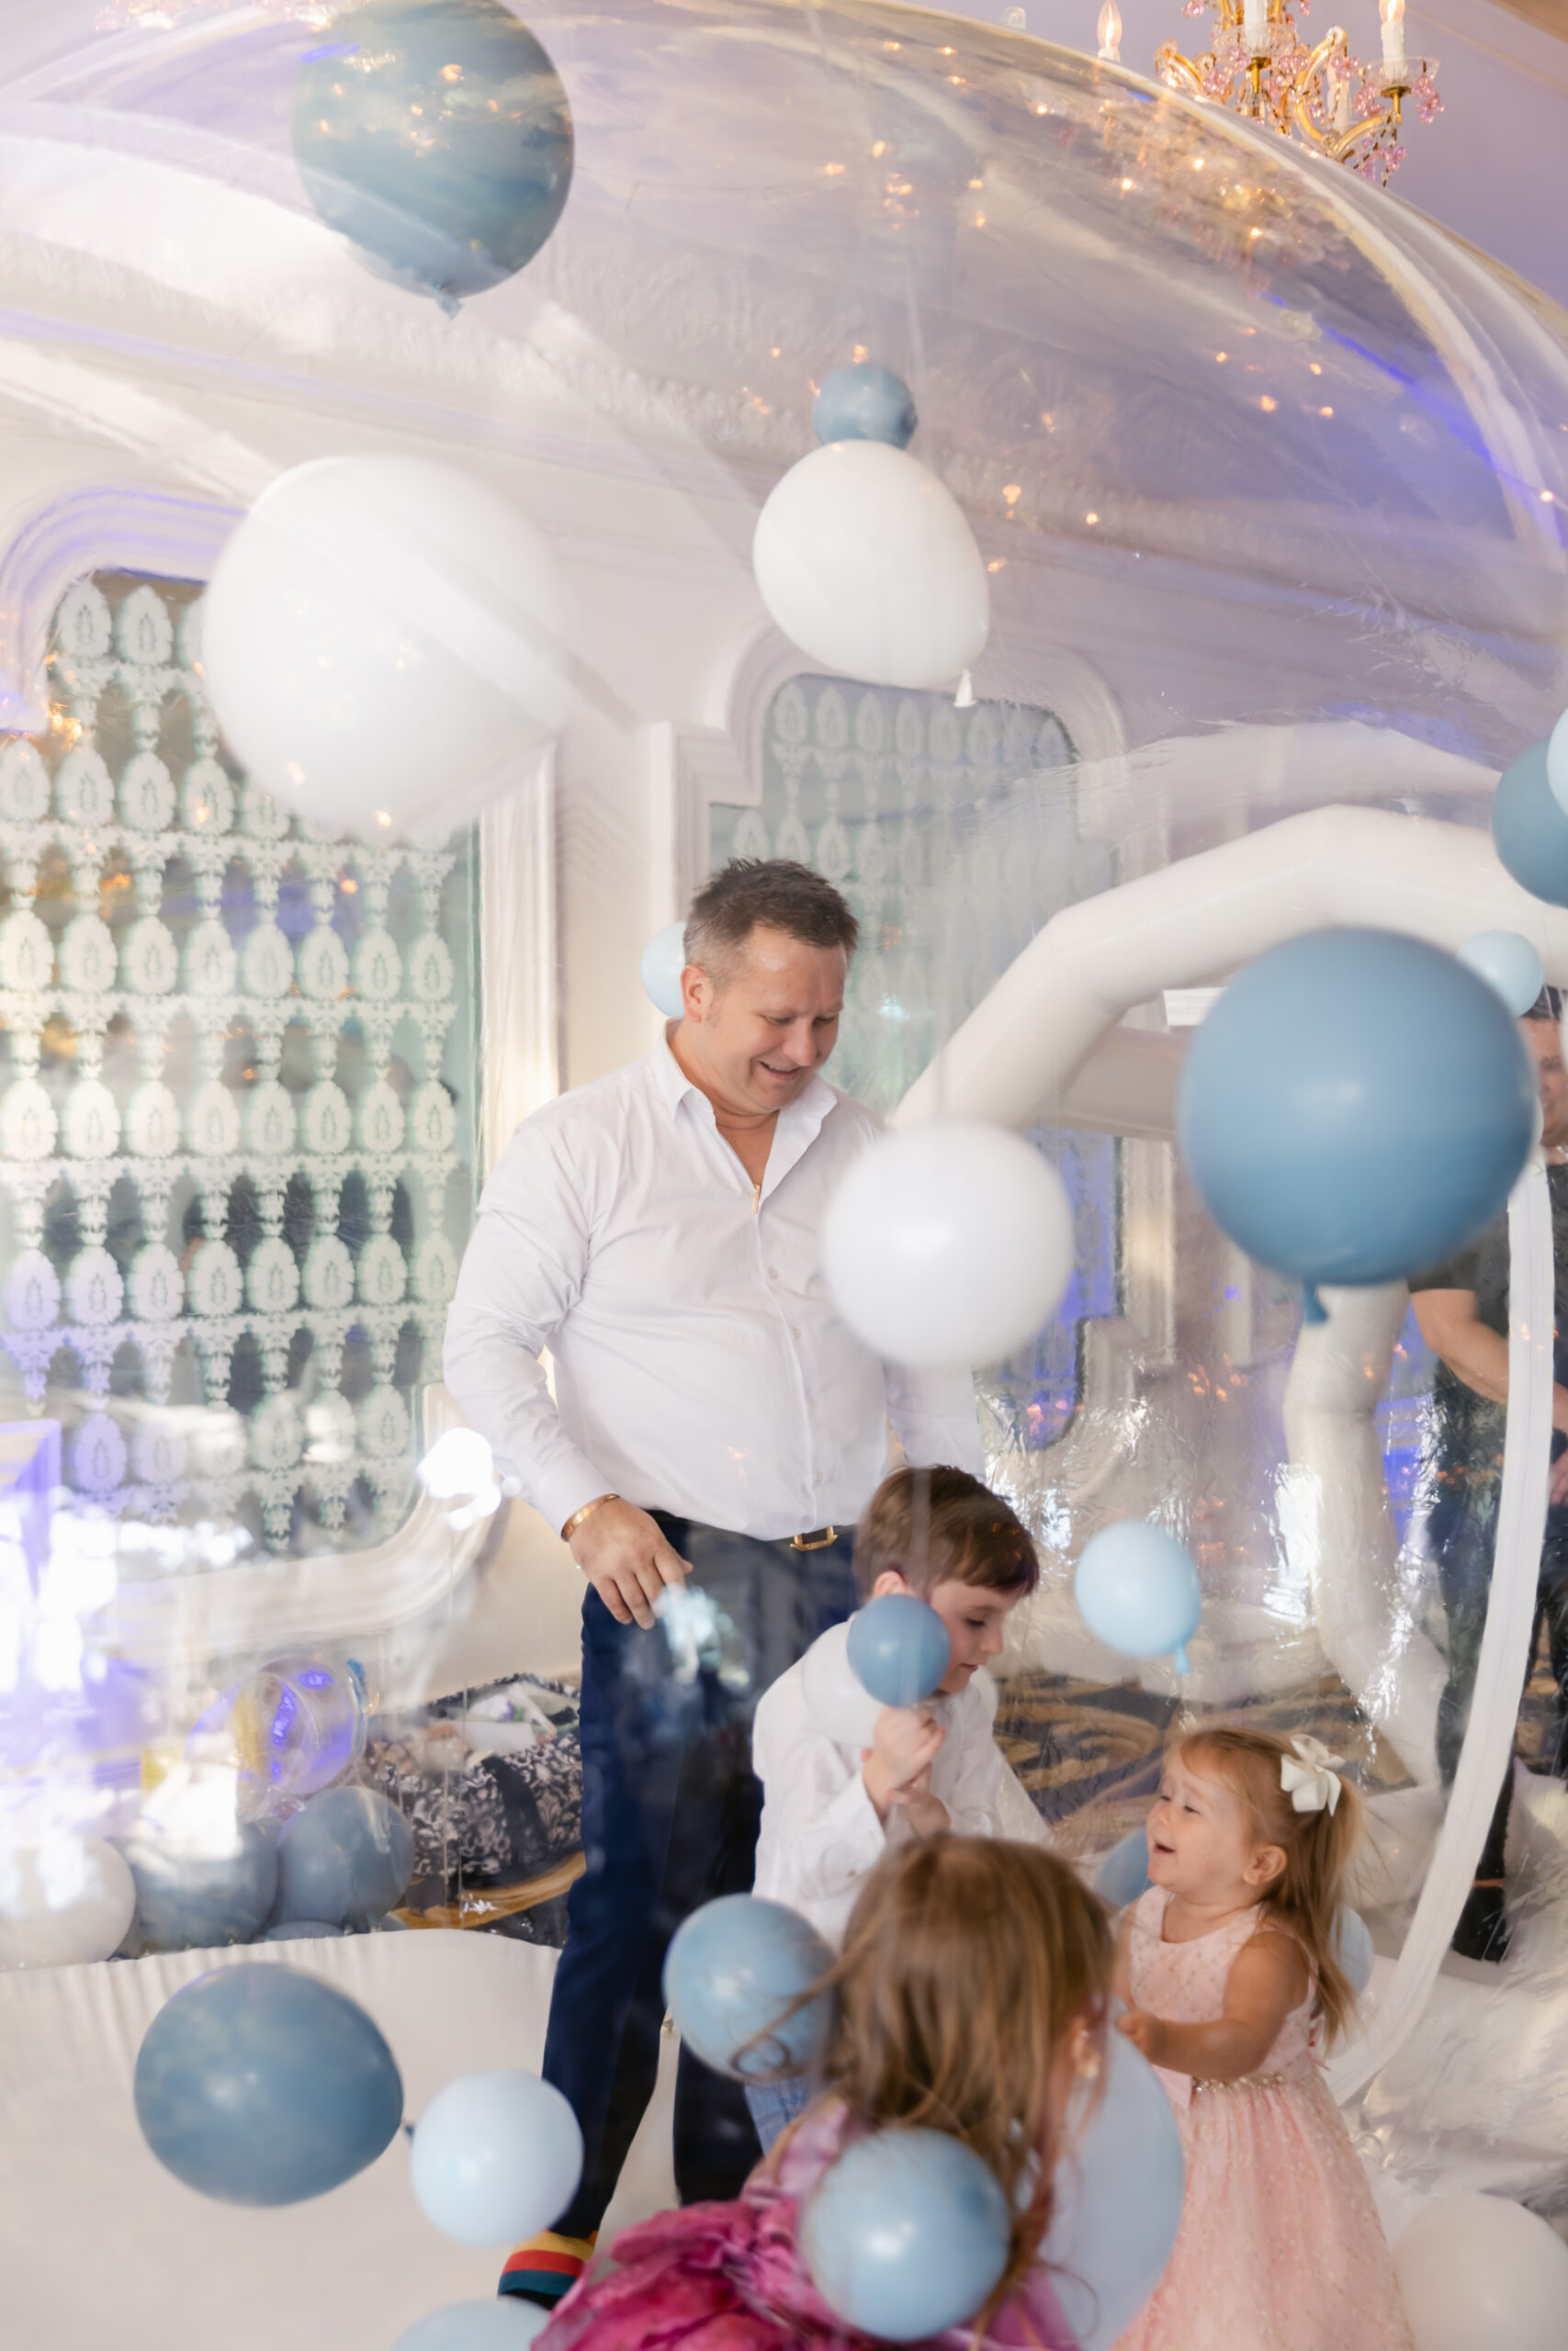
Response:
[[[757,1702],[752,1766],[762,1780],[762,1834],[755,1890],[769,1902],[788,1902],[837,1951],[867,1871],[889,1846],[914,1831],[898,1810],[889,1813],[886,1829],[877,1820],[860,1777],[860,1744],[842,1747],[818,1730],[806,1712],[804,1672],[802,1657]],[[957,1697],[933,1697],[929,1707],[947,1730],[931,1766],[931,1794],[947,1806],[952,1834],[1027,1834],[1018,1808],[1006,1801],[1004,1782],[1013,1775],[992,1730],[997,1686],[990,1674],[976,1674]],[[1016,1780],[1011,1791],[1034,1820],[1039,1841],[1048,1843]]]

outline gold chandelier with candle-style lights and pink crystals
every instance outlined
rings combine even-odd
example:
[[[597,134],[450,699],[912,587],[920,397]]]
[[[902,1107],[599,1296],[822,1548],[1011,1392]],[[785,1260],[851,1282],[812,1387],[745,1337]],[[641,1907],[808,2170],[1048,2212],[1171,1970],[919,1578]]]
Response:
[[[1187,16],[1213,12],[1213,40],[1204,56],[1182,56],[1173,40],[1154,52],[1154,71],[1171,89],[1229,106],[1253,122],[1267,122],[1286,139],[1300,139],[1331,162],[1345,162],[1387,186],[1406,158],[1406,101],[1422,122],[1434,122],[1436,59],[1406,49],[1406,0],[1378,0],[1382,54],[1361,61],[1342,26],[1331,26],[1316,47],[1295,28],[1312,0],[1185,0]],[[1117,0],[1100,12],[1100,56],[1121,54]]]

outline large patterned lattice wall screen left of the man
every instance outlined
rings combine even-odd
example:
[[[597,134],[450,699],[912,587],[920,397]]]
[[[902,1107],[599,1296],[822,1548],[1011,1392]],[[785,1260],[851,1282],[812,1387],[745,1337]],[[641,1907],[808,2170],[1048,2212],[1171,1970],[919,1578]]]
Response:
[[[59,607],[0,743],[0,1338],[120,1516],[386,1535],[473,1213],[473,844],[367,849],[226,762],[200,590]]]

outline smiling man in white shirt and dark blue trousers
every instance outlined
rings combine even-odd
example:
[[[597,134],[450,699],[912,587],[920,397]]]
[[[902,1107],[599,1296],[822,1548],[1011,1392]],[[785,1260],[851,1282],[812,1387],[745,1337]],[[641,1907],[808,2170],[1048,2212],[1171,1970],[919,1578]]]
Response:
[[[853,915],[804,865],[717,875],[686,922],[682,1020],[524,1119],[447,1321],[447,1385],[590,1585],[588,1869],[543,2067],[583,2125],[583,2186],[503,2278],[545,2304],[581,2273],[654,2090],[670,1935],[752,1883],[750,1714],[853,1608],[889,1420],[912,1462],[980,1465],[971,1382],[882,1364],[818,1265],[823,1211],[879,1133],[816,1074],[853,947]],[[686,1575],[712,1608],[684,1632],[677,1608],[665,1639],[654,1603]],[[733,2196],[755,2158],[741,2090],[684,2050],[682,2201]]]

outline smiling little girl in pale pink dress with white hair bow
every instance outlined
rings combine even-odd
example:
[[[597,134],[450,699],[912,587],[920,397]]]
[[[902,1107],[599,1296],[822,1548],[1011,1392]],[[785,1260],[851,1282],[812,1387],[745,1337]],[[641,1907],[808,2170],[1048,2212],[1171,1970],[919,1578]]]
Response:
[[[1194,1730],[1121,1914],[1121,2031],[1182,2125],[1166,2273],[1114,2351],[1410,2351],[1394,2264],[1319,2048],[1354,2017],[1335,1951],[1361,1803],[1316,1740]]]

